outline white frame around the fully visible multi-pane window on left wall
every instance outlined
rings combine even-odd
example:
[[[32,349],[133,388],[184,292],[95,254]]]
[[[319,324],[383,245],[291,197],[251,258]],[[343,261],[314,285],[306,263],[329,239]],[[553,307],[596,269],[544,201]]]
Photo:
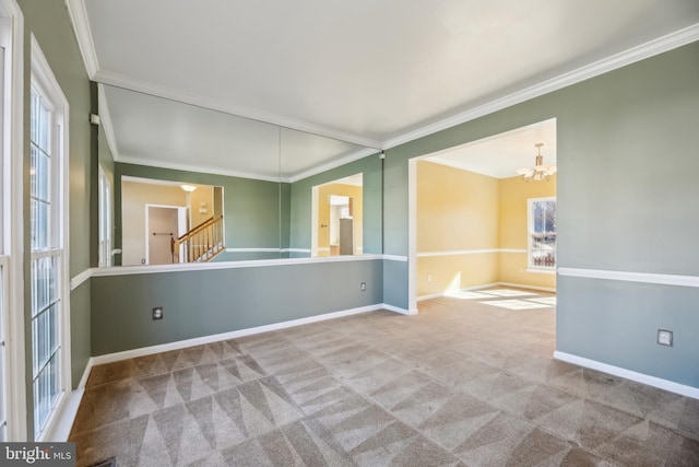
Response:
[[[66,95],[63,94],[54,72],[51,71],[46,57],[42,52],[42,49],[36,40],[36,37],[32,34],[32,84],[43,91],[47,102],[52,106],[52,126],[57,131],[57,141],[54,143],[55,160],[52,161],[56,166],[56,187],[54,196],[56,196],[56,202],[52,203],[59,209],[54,209],[51,217],[54,217],[55,226],[57,227],[57,248],[60,249],[59,257],[59,275],[58,287],[60,288],[60,320],[58,323],[58,341],[60,342],[59,350],[59,369],[60,381],[58,387],[58,396],[51,413],[46,419],[44,427],[37,430],[34,427],[35,441],[45,441],[50,439],[50,434],[54,431],[54,425],[58,420],[58,415],[61,413],[63,405],[68,400],[68,395],[71,390],[71,352],[70,352],[70,237],[69,237],[69,180],[68,180],[68,167],[69,167],[69,104]],[[32,254],[34,257],[34,253]],[[35,401],[36,404],[36,401]],[[34,405],[35,405],[34,404]],[[34,419],[34,407],[32,408],[32,418]]]

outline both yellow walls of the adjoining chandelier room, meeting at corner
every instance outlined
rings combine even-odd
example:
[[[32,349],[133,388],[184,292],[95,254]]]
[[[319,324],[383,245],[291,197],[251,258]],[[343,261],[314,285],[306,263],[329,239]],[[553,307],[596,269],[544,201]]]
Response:
[[[555,275],[526,271],[526,200],[549,196],[555,176],[528,184],[418,161],[417,295],[496,282],[555,288]],[[452,254],[420,256],[437,252]]]

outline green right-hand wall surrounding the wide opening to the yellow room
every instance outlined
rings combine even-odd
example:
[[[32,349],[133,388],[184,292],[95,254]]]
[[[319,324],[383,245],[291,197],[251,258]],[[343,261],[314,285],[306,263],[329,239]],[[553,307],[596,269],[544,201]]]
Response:
[[[384,253],[408,254],[410,159],[555,117],[559,267],[699,276],[698,57],[694,43],[387,151]],[[697,289],[561,279],[558,351],[699,387]],[[383,280],[405,307],[407,264]]]

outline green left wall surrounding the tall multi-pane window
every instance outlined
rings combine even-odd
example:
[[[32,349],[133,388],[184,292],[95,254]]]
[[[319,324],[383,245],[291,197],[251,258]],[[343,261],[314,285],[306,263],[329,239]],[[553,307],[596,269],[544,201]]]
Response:
[[[85,271],[96,261],[91,256],[93,217],[91,205],[94,165],[96,161],[96,129],[90,125],[93,112],[91,83],[82,61],[78,42],[66,10],[59,0],[17,1],[24,14],[24,135],[29,135],[29,92],[31,92],[31,36],[34,34],[39,47],[58,80],[70,105],[69,127],[69,210],[70,218],[70,276]],[[31,268],[29,268],[29,145],[24,145],[24,289],[25,289],[25,351],[26,351],[26,397],[27,434],[32,439],[33,394],[32,394],[32,335],[31,335]],[[83,283],[71,292],[71,360],[72,386],[80,382],[91,350],[91,311],[90,282]]]

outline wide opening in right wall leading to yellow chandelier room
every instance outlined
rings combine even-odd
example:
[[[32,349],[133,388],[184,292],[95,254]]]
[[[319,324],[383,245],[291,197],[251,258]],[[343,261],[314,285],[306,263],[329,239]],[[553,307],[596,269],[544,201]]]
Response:
[[[412,313],[419,300],[466,290],[555,292],[555,249],[548,242],[555,233],[532,232],[537,224],[530,211],[536,210],[529,206],[555,199],[556,176],[529,182],[522,176],[525,167],[538,165],[542,142],[543,164],[555,165],[555,118],[410,161]],[[547,260],[536,261],[541,252],[535,247],[542,243],[531,241],[536,235],[548,242]]]

